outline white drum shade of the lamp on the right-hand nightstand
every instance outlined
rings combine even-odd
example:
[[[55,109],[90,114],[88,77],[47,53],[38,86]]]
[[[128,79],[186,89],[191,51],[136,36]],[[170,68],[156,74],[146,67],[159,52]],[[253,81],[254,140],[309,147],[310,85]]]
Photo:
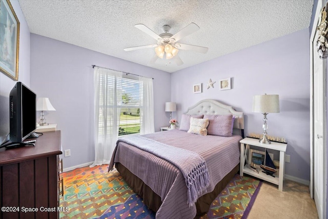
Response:
[[[279,95],[255,95],[253,96],[253,112],[274,113],[280,112]]]

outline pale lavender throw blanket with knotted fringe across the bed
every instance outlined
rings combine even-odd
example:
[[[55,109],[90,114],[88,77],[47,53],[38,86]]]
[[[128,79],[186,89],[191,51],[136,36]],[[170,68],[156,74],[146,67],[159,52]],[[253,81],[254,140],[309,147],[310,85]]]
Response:
[[[140,135],[119,138],[116,147],[118,142],[125,142],[141,150],[152,153],[178,167],[183,177],[185,177],[186,186],[188,188],[187,198],[189,206],[192,206],[197,201],[198,196],[202,194],[203,191],[206,191],[206,188],[209,186],[210,178],[206,162],[203,157],[196,152],[156,142]],[[109,169],[112,169],[114,166],[113,160],[114,159],[112,159]]]

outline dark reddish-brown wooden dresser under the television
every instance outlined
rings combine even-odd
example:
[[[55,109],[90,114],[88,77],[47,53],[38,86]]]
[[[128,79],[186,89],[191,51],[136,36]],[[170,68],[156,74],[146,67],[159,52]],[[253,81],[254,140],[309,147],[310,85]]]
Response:
[[[0,218],[59,217],[60,131],[35,139],[35,146],[0,149]]]

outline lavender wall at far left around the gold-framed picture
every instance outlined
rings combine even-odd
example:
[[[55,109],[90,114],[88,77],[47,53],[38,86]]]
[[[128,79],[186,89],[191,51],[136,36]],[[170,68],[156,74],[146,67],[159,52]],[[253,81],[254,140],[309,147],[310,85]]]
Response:
[[[30,86],[30,31],[18,1],[10,1],[20,23],[18,81]],[[9,134],[9,92],[16,84],[13,79],[0,72],[0,144]]]

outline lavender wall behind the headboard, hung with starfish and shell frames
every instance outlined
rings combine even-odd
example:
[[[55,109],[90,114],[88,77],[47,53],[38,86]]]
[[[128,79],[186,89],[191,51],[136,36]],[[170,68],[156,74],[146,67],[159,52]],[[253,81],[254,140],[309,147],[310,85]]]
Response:
[[[280,113],[268,115],[269,135],[288,141],[285,173],[310,180],[310,51],[309,29],[274,39],[172,73],[171,98],[177,118],[201,99],[217,99],[245,114],[245,135],[262,132],[262,114],[252,112],[256,94],[279,94]],[[215,48],[210,48],[215,49]],[[219,80],[231,77],[232,89],[219,90]],[[216,81],[207,89],[209,79]],[[193,84],[203,92],[193,94]]]

